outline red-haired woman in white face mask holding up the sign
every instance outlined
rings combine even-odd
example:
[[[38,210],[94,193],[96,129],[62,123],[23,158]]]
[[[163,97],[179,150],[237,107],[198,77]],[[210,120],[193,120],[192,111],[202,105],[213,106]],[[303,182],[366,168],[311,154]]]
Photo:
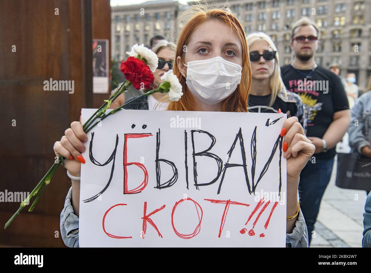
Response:
[[[182,14],[183,29],[177,39],[174,74],[178,77],[183,96],[171,101],[167,110],[247,112],[251,85],[249,47],[243,26],[229,9],[191,6]],[[87,136],[81,123],[73,122],[63,136],[63,145],[56,142],[57,156],[63,155],[65,166],[73,176],[80,176],[81,163],[68,160],[81,156]],[[308,247],[308,231],[298,201],[299,175],[315,147],[306,138],[297,117],[283,123],[283,152],[287,159],[286,246]],[[61,213],[60,228],[66,245],[78,246],[79,181],[72,180],[72,190]],[[70,204],[72,200],[72,205]],[[74,234],[67,234],[68,232]]]

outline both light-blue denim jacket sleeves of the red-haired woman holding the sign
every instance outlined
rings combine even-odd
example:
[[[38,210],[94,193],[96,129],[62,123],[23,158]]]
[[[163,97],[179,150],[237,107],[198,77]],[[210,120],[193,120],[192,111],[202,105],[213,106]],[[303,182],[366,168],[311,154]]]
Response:
[[[79,247],[79,217],[73,213],[71,199],[72,187],[66,196],[65,207],[60,213],[60,234],[66,246]],[[369,212],[371,217],[371,209]],[[308,230],[301,210],[292,233],[286,234],[286,247],[308,247]]]

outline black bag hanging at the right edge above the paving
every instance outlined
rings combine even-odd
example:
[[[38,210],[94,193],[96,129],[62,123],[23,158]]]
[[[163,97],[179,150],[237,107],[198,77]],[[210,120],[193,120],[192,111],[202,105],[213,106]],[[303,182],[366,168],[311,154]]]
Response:
[[[336,186],[371,191],[371,158],[359,153],[338,153]]]

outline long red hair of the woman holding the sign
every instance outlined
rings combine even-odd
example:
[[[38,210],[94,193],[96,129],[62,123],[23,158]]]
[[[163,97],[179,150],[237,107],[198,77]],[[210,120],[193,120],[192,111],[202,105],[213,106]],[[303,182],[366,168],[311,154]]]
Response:
[[[236,16],[232,14],[228,7],[214,8],[205,5],[193,5],[185,10],[178,21],[181,26],[184,26],[177,38],[177,48],[175,50],[175,58],[180,56],[181,62],[184,62],[184,45],[187,45],[192,33],[196,28],[208,21],[220,20],[227,26],[231,27],[231,32],[236,33],[242,45],[242,77],[241,82],[236,90],[226,99],[222,101],[222,111],[229,112],[247,112],[247,97],[251,85],[251,67],[249,59],[249,47],[246,42],[246,36],[243,26]],[[174,74],[178,77],[183,89],[183,96],[179,101],[171,101],[167,110],[175,111],[194,111],[194,97],[188,90],[185,84],[185,77],[181,74],[177,62],[174,59]]]

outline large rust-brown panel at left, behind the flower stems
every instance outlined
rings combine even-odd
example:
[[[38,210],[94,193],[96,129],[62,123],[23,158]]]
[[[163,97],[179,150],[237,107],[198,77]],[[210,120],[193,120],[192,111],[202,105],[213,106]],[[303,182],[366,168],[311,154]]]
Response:
[[[54,162],[54,142],[92,106],[91,2],[0,0],[0,7],[0,191],[30,192]],[[74,81],[74,93],[44,91],[50,78]],[[0,244],[64,246],[55,231],[68,188],[60,167],[34,211],[0,228]],[[0,203],[0,226],[18,207]]]

